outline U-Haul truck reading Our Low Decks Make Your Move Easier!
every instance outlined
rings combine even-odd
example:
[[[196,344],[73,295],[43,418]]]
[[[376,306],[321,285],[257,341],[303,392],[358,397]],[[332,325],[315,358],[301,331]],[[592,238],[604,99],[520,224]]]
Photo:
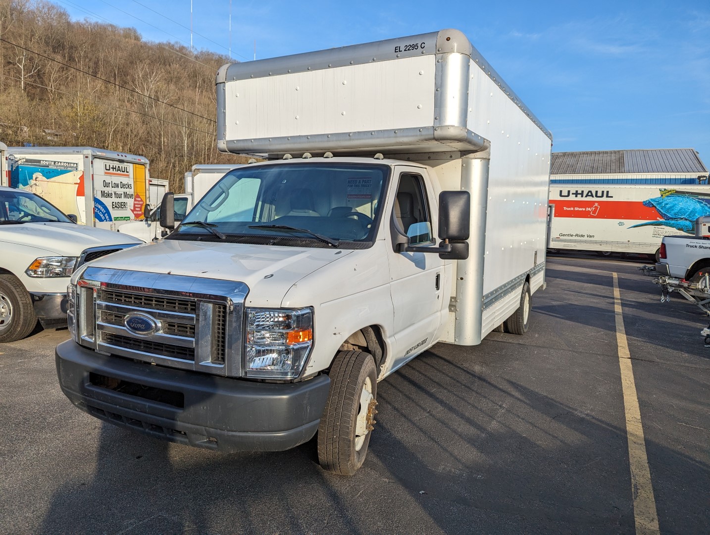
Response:
[[[40,195],[85,225],[116,230],[143,219],[148,160],[93,147],[9,147],[13,188]]]

